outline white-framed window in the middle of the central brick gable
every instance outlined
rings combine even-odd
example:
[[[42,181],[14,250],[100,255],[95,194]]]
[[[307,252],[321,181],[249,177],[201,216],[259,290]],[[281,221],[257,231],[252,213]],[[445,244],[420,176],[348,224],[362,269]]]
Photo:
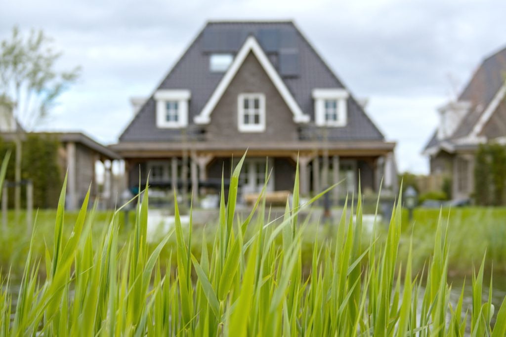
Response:
[[[265,95],[263,93],[241,93],[238,96],[237,106],[239,131],[265,131]]]

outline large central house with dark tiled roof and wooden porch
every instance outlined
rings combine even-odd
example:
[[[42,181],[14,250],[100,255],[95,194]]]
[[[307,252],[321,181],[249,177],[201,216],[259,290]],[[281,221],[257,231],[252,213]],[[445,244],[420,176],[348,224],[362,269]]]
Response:
[[[268,191],[293,188],[297,160],[304,196],[344,178],[334,198],[357,192],[359,175],[364,190],[383,176],[384,190],[396,189],[395,142],[291,21],[208,22],[151,96],[132,103],[111,149],[133,190],[148,173],[166,189],[219,183],[246,149],[243,194],[262,188],[266,157]]]

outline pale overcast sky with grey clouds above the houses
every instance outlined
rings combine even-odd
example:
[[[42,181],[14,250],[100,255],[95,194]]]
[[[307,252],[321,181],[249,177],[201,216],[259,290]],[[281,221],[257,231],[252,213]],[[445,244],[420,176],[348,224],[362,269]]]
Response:
[[[505,1],[3,1],[0,38],[41,28],[82,67],[51,130],[117,141],[129,98],[158,85],[207,20],[292,19],[388,140],[399,169],[428,172],[421,156],[437,107],[454,98],[486,56],[506,46]]]

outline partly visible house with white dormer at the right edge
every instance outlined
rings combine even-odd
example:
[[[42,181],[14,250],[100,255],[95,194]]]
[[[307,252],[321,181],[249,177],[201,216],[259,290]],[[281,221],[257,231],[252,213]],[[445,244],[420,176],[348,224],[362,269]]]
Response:
[[[475,152],[480,143],[506,142],[506,48],[483,61],[456,102],[439,109],[440,123],[424,154],[431,173],[452,178],[452,198],[474,191]]]

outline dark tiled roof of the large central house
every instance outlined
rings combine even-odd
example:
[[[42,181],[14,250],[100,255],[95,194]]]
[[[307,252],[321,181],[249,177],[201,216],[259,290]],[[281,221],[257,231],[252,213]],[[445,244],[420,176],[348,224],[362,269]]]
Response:
[[[266,22],[208,22],[189,45],[183,56],[162,80],[159,89],[188,89],[192,93],[188,110],[190,123],[204,109],[217,90],[225,73],[209,71],[211,53],[238,55],[248,36],[254,36],[268,57],[282,84],[304,115],[314,120],[314,88],[344,88],[311,44],[291,21]],[[297,74],[290,67],[282,67],[283,58],[291,58],[297,65]],[[155,90],[155,91],[156,91]],[[285,95],[285,97],[288,97]],[[181,139],[180,129],[159,129],[155,123],[153,95],[120,135],[120,141],[172,141]],[[292,109],[293,111],[293,109]],[[350,95],[348,126],[329,130],[329,139],[384,140],[383,134],[372,123],[362,107]]]

